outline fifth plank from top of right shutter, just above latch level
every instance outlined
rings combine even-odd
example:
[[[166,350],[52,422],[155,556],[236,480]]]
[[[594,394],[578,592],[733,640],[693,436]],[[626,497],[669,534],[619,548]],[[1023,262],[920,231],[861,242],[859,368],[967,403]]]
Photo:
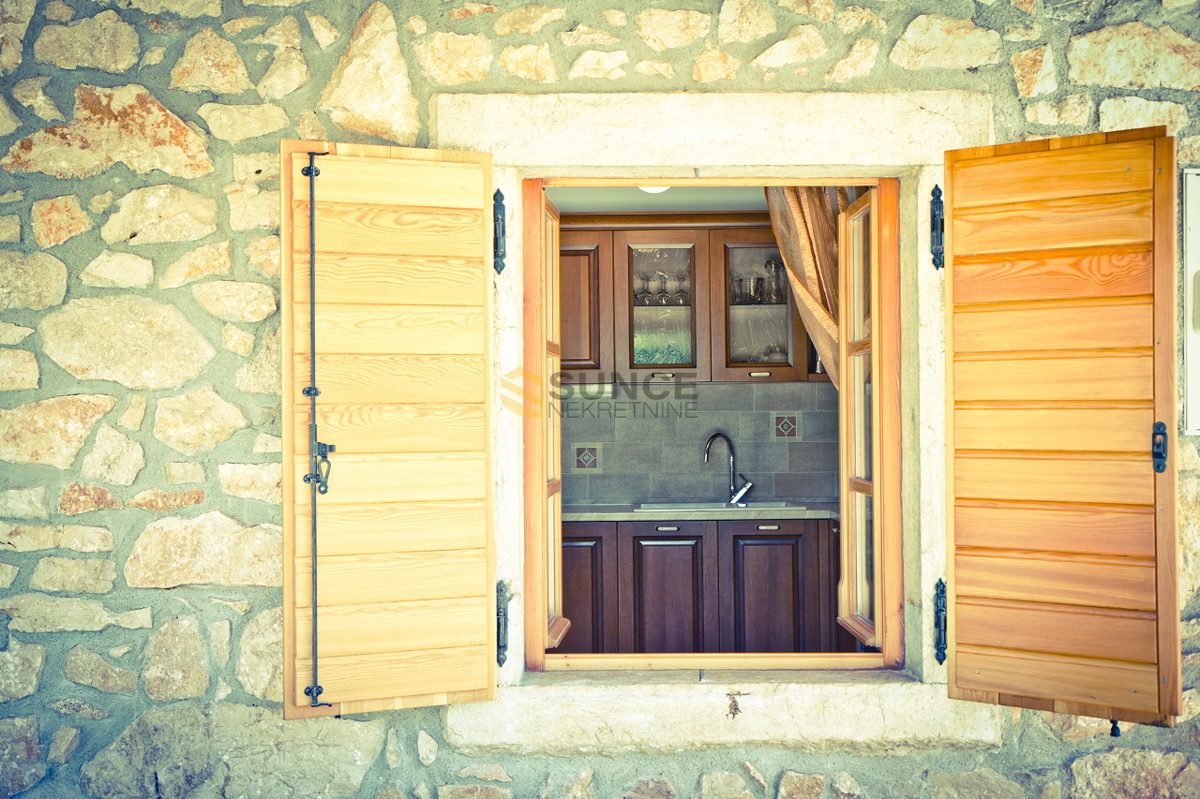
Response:
[[[1150,349],[1038,358],[965,355],[954,361],[954,398],[1152,400],[1153,372]]]

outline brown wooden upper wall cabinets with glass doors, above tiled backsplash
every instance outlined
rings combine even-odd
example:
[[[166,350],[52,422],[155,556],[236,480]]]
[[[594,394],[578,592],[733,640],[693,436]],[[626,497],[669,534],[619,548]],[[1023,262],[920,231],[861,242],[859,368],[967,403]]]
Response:
[[[564,215],[564,383],[778,383],[811,353],[767,216]]]

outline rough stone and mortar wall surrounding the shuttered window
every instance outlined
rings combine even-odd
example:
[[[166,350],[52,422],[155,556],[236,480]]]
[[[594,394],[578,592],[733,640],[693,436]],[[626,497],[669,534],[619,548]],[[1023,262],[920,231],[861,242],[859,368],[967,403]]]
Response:
[[[0,798],[1200,795],[1192,691],[1174,729],[1004,710],[982,749],[468,755],[433,709],[280,720],[280,137],[426,145],[445,92],[968,90],[997,140],[1165,124],[1200,163],[1196,0],[664,5],[0,0]]]

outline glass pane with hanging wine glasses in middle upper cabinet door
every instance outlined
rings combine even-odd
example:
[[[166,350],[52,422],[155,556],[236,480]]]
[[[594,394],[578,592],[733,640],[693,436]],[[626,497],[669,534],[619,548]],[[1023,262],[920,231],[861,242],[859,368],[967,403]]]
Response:
[[[635,365],[694,366],[691,245],[630,247]]]

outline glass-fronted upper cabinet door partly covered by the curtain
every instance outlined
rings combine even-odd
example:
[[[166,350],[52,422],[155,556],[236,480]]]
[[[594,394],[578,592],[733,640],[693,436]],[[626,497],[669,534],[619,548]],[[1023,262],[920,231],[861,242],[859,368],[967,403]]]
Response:
[[[712,232],[713,379],[806,380],[808,336],[769,228]]]

